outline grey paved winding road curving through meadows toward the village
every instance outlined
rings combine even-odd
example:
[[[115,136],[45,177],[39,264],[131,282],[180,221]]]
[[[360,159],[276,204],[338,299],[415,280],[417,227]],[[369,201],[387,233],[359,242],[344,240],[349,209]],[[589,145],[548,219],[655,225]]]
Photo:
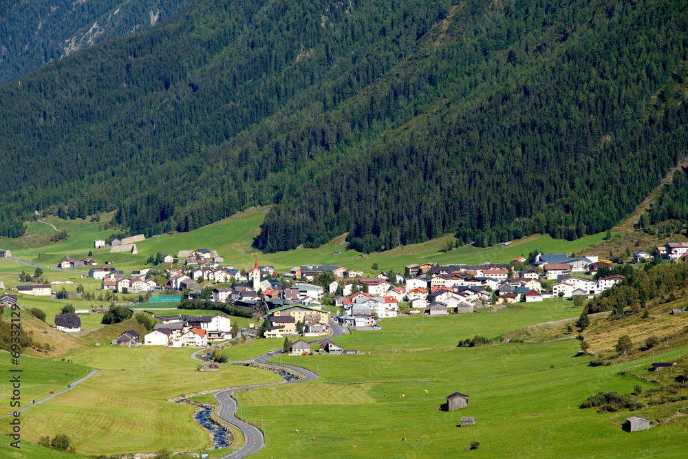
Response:
[[[321,339],[316,339],[313,341],[308,341],[309,343],[316,343],[323,341],[323,339],[330,339],[330,338],[336,338],[343,334],[343,329],[341,326],[336,323],[333,319],[330,319],[330,330],[332,332],[330,335],[327,337],[321,338]],[[208,348],[202,350],[203,352],[207,352]],[[191,358],[200,361],[201,359],[198,359],[197,354],[202,351],[196,351],[193,354],[191,354]],[[261,354],[255,359],[252,359],[250,361],[246,362],[229,362],[229,363],[235,363],[235,364],[242,364],[242,363],[259,363],[261,365],[270,365],[272,367],[281,367],[286,370],[289,370],[289,372],[296,374],[299,378],[294,379],[293,381],[283,381],[281,383],[277,384],[294,384],[294,383],[305,383],[308,381],[314,381],[320,376],[316,372],[312,372],[308,370],[307,368],[303,367],[296,367],[294,365],[281,365],[279,363],[268,363],[268,359],[272,359],[272,357],[275,357],[279,354],[282,354],[283,351],[279,350],[275,352],[275,354]],[[219,408],[217,408],[217,417],[224,420],[226,423],[232,425],[236,429],[239,429],[241,431],[241,434],[244,435],[244,445],[241,446],[241,448],[237,449],[237,451],[234,451],[233,453],[228,454],[227,456],[223,456],[222,459],[241,459],[241,458],[246,458],[250,456],[253,453],[257,453],[261,449],[265,447],[265,434],[261,429],[259,429],[257,426],[246,423],[244,420],[241,420],[237,418],[237,401],[233,397],[233,394],[235,392],[239,392],[242,390],[250,390],[250,389],[255,389],[257,387],[267,387],[267,386],[272,386],[275,385],[276,383],[266,383],[266,384],[256,384],[256,385],[246,385],[246,386],[241,386],[241,387],[233,387],[231,389],[226,389],[221,392],[215,392],[213,394],[215,396],[215,399],[219,403]]]

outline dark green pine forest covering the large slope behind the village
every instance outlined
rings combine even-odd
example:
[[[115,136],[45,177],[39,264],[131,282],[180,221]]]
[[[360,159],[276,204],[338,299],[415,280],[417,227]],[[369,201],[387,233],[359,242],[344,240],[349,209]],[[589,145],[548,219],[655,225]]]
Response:
[[[610,228],[685,156],[687,6],[200,0],[0,90],[0,234],[147,235],[275,204],[255,245]]]

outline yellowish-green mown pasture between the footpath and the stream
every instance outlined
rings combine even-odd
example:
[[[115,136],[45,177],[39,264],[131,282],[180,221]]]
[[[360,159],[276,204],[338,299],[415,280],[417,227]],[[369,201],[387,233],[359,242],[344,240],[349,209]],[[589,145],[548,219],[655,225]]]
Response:
[[[197,372],[198,363],[189,354],[189,349],[146,347],[74,350],[67,359],[100,371],[67,394],[32,408],[23,420],[26,440],[36,442],[68,426],[77,450],[85,454],[204,449],[208,434],[193,421],[195,408],[166,398],[279,380],[272,372],[235,365]]]

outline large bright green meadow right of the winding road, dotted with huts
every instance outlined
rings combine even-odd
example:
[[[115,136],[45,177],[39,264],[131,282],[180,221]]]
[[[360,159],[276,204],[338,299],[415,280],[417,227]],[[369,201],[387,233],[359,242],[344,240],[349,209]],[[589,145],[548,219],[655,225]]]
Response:
[[[507,312],[504,317],[517,323],[519,313],[525,321],[537,312],[543,314],[541,319],[549,319],[552,310]],[[264,422],[268,445],[257,457],[279,456],[284,444],[290,445],[293,456],[336,451],[342,458],[674,458],[685,452],[685,418],[626,434],[621,431],[626,417],[648,416],[656,421],[652,411],[599,414],[578,408],[601,390],[631,392],[639,381],[619,372],[630,365],[645,371],[656,357],[588,367],[588,357],[575,356],[576,340],[456,348],[454,343],[463,334],[494,336],[509,323],[475,314],[480,321],[462,326],[464,317],[442,318],[434,331],[417,328],[419,322],[434,319],[390,319],[382,330],[335,340],[346,349],[371,351],[369,355],[283,357],[285,363],[311,366],[322,379],[237,394],[244,416],[254,422],[262,416]],[[402,339],[404,328],[411,340]],[[437,337],[453,339],[438,348]],[[675,359],[687,351],[674,350],[665,358]],[[436,410],[445,396],[457,391],[471,396],[469,407],[449,413]],[[674,409],[682,407],[677,405]],[[475,416],[477,425],[458,427],[461,416]],[[480,447],[466,451],[473,440],[480,441]]]

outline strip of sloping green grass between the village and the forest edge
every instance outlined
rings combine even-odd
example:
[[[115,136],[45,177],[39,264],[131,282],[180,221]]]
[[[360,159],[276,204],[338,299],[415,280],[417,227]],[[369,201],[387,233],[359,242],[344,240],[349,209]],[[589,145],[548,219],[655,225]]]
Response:
[[[28,226],[27,233],[36,231],[35,235],[19,239],[2,239],[0,240],[0,247],[10,248],[14,257],[33,260],[46,266],[53,266],[65,255],[83,257],[92,251],[94,259],[100,264],[106,260],[114,261],[114,266],[125,270],[125,272],[141,268],[149,255],[155,255],[158,252],[177,255],[179,250],[204,247],[217,250],[220,255],[225,257],[225,263],[232,264],[235,268],[251,268],[255,263],[256,255],[258,255],[260,264],[275,266],[281,272],[301,264],[318,263],[336,264],[363,270],[365,273],[377,273],[378,271],[373,271],[371,268],[373,263],[377,263],[380,270],[394,268],[397,272],[403,272],[405,265],[420,261],[433,261],[440,264],[505,262],[519,255],[528,255],[530,251],[536,249],[543,253],[579,253],[593,244],[599,244],[604,237],[604,233],[600,233],[569,242],[552,239],[548,235],[532,235],[513,241],[508,246],[498,245],[488,248],[463,246],[444,253],[442,250],[447,242],[454,240],[453,235],[445,235],[422,244],[399,247],[384,253],[372,253],[366,257],[355,250],[345,250],[342,255],[332,255],[334,251],[345,248],[344,238],[338,237],[330,244],[320,248],[299,248],[280,253],[259,254],[257,250],[252,248],[251,244],[253,237],[259,233],[259,226],[268,210],[268,207],[252,208],[190,233],[151,237],[136,243],[138,255],[109,253],[109,248],[95,250],[93,248],[94,239],[107,239],[109,234],[114,232],[99,231],[103,225],[102,222],[65,221],[57,217],[47,217],[45,222],[55,224],[57,228],[66,229],[71,235],[67,241],[50,242],[49,239],[45,239],[47,235],[44,234],[47,231],[45,228],[50,230],[50,226],[32,222]],[[106,219],[107,216],[104,215],[103,221]],[[87,271],[87,269],[84,270]],[[20,271],[21,269],[17,273]],[[58,272],[48,274],[51,280],[53,277],[54,280],[78,278],[78,275],[73,273],[72,275]],[[0,279],[2,279],[1,275],[2,268],[0,265]],[[84,285],[87,286],[87,282],[84,282]]]

